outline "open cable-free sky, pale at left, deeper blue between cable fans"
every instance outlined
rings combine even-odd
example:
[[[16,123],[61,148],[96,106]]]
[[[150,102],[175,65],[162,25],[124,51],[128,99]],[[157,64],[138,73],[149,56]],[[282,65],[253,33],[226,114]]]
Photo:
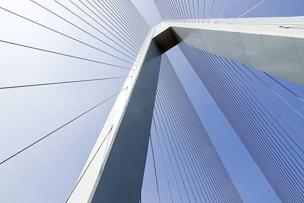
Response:
[[[161,19],[152,0],[132,0],[151,27]],[[51,1],[39,2],[58,10]],[[222,17],[237,17],[260,0],[231,0]],[[206,0],[206,10],[212,1]],[[226,0],[216,0],[212,17],[218,17]],[[39,20],[41,23],[85,39],[79,31],[48,15],[28,0],[1,0],[0,6]],[[25,9],[26,8],[26,9]],[[303,0],[267,0],[244,17],[304,15]],[[10,40],[32,46],[47,47],[88,58],[106,56],[54,33],[22,21],[0,11],[1,40]],[[75,22],[77,22],[75,20]],[[96,43],[93,40],[88,40]],[[228,173],[245,203],[276,203],[276,194],[240,142],[228,121],[186,61],[178,47],[167,53],[181,79],[197,113],[211,137]],[[65,57],[0,44],[0,86],[51,81],[91,79],[107,76],[125,76],[128,71],[109,69]],[[282,80],[280,80],[282,81]],[[124,79],[62,84],[0,91],[0,160],[53,131],[96,103],[117,92]],[[304,97],[303,86],[282,81]],[[280,89],[277,89],[281,91]],[[282,94],[288,95],[285,91]],[[293,102],[294,100],[292,100]],[[79,173],[100,133],[114,103],[114,99],[89,112],[51,137],[0,166],[0,202],[3,203],[60,203],[74,187]],[[297,103],[298,109],[303,109]],[[152,171],[151,148],[147,157],[147,173],[143,185],[143,203],[157,202]],[[163,196],[163,198],[166,198]]]

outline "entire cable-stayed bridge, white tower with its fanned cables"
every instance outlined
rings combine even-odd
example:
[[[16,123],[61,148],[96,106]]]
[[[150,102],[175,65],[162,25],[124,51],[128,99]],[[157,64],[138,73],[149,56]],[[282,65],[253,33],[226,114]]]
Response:
[[[39,53],[49,64],[68,59],[76,67],[109,72],[91,78],[9,83],[0,87],[2,91],[122,79],[124,83],[48,133],[20,145],[1,160],[0,167],[115,100],[75,187],[66,195],[67,203],[142,202],[148,150],[155,179],[151,187],[156,188],[158,202],[243,202],[166,55],[178,46],[278,199],[304,202],[304,100],[280,80],[304,85],[304,17],[245,18],[265,1],[244,8],[234,18],[222,18],[235,3],[228,0],[221,4],[218,17],[211,18],[216,0],[154,0],[163,21],[153,28],[130,0],[3,3],[1,13],[20,26],[50,34],[42,46],[33,36],[21,40],[19,33],[3,30],[0,42],[18,50],[15,60],[24,57],[22,52]],[[22,4],[41,18],[24,12]],[[62,39],[73,44],[73,50]],[[30,57],[28,61],[32,62]],[[160,190],[160,184],[166,189]]]

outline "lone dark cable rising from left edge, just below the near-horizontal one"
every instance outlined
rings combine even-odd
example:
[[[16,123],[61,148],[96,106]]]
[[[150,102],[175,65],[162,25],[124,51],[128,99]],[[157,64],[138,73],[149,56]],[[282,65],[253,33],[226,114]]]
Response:
[[[68,123],[62,125],[61,127],[57,128],[56,130],[52,131],[52,132],[49,133],[48,135],[45,135],[45,136],[41,137],[40,139],[36,140],[35,142],[31,143],[30,145],[24,147],[24,148],[21,149],[20,151],[18,151],[18,152],[16,152],[16,153],[14,153],[13,155],[9,156],[9,157],[6,158],[5,160],[1,161],[1,162],[0,162],[0,165],[1,165],[2,163],[4,163],[4,162],[8,161],[8,160],[11,159],[12,157],[16,156],[17,154],[21,153],[22,151],[24,151],[24,150],[28,149],[29,147],[33,146],[34,144],[38,143],[39,141],[43,140],[44,138],[48,137],[49,135],[52,135],[52,134],[55,133],[56,131],[58,131],[58,130],[62,129],[63,127],[67,126],[68,124],[72,123],[72,122],[75,121],[77,118],[79,118],[79,117],[83,116],[84,114],[86,114],[87,112],[89,112],[89,111],[95,109],[97,106],[103,104],[104,102],[108,101],[109,99],[111,99],[112,97],[116,96],[116,95],[119,94],[120,92],[126,90],[127,88],[128,88],[128,87],[126,87],[126,88],[120,90],[119,92],[113,94],[112,96],[110,96],[110,97],[108,97],[107,99],[103,100],[102,102],[100,102],[99,104],[97,104],[97,105],[95,105],[94,107],[90,108],[90,109],[87,110],[86,112],[84,112],[84,113],[80,114],[79,116],[77,116],[76,118],[72,119],[72,120],[69,121]]]

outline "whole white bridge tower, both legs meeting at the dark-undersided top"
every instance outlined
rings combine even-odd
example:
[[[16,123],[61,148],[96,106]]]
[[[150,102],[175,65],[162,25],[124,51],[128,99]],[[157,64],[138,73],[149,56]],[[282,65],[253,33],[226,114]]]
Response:
[[[137,203],[140,199],[161,54],[189,46],[304,85],[304,17],[162,22],[152,28],[140,65],[133,66],[68,203]],[[282,23],[282,24],[281,24]]]

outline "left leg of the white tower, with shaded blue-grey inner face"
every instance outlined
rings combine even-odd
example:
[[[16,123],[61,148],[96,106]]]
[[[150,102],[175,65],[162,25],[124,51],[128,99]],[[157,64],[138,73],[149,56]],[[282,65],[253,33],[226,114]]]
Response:
[[[129,96],[125,99],[126,92],[118,96],[84,168],[102,140],[105,143],[68,203],[139,202],[160,60],[161,52],[152,40],[136,79],[133,78],[133,85],[128,86]],[[128,83],[126,81],[125,85]]]

